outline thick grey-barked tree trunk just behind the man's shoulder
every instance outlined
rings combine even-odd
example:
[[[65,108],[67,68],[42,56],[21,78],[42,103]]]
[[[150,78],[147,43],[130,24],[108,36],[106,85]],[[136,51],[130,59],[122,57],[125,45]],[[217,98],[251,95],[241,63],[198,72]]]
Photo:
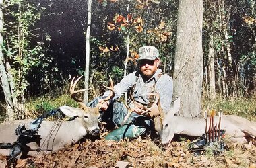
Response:
[[[179,115],[201,116],[203,81],[203,0],[180,0],[174,60],[174,94],[181,97]]]

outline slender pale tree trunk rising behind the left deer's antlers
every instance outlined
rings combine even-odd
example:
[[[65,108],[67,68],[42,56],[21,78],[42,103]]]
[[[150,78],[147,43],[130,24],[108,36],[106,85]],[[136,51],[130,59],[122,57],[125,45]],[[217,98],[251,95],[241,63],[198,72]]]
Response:
[[[86,68],[84,72],[84,87],[89,87],[89,71],[90,71],[90,28],[91,28],[91,17],[92,17],[92,0],[88,0],[88,20],[86,30]],[[84,103],[88,103],[89,91],[84,92]]]

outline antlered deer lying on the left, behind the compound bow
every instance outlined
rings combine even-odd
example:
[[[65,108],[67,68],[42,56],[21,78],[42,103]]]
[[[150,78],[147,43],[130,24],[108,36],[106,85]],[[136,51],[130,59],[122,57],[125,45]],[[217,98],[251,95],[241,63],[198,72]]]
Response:
[[[75,82],[74,79],[71,81],[70,93],[71,97],[79,103],[81,108],[73,108],[69,106],[61,106],[60,110],[69,117],[73,117],[70,121],[43,121],[38,130],[40,135],[40,146],[36,143],[30,143],[28,146],[32,150],[28,152],[28,155],[35,156],[38,154],[36,149],[40,149],[42,152],[52,152],[63,148],[65,145],[69,145],[79,141],[86,134],[98,135],[100,134],[100,128],[98,126],[98,118],[100,117],[98,104],[95,108],[87,107],[81,99],[75,97],[76,93],[85,91],[86,89],[81,89],[75,91],[75,85],[81,79],[79,77]],[[105,86],[104,86],[105,87]],[[114,96],[113,82],[110,79],[110,87],[106,87],[112,92],[104,101]],[[20,124],[25,124],[26,128],[30,128],[30,123],[34,120],[15,120],[11,122],[5,122],[0,124],[0,143],[13,143],[17,140],[15,134],[15,129],[18,128]],[[34,151],[33,151],[34,149]],[[42,153],[40,152],[40,153]],[[9,150],[0,149],[0,154],[9,155]]]

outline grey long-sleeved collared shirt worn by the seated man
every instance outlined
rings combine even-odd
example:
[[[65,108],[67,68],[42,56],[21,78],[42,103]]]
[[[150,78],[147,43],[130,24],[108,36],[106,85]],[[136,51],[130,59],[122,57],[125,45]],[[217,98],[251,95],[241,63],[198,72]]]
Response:
[[[150,93],[152,89],[149,87],[154,87],[155,85],[155,89],[160,95],[161,107],[164,112],[168,112],[170,109],[170,104],[172,103],[173,93],[173,81],[169,75],[162,74],[162,70],[157,69],[153,77],[148,79],[148,81],[143,81],[140,71],[129,73],[119,83],[117,83],[117,85],[114,86],[115,97],[113,97],[113,100],[119,99],[122,93],[127,93],[127,91],[133,87],[133,85],[135,85],[135,89],[133,90],[133,99],[143,105],[148,105],[149,95],[146,95],[146,93]],[[108,94],[109,92],[107,91],[104,96]]]

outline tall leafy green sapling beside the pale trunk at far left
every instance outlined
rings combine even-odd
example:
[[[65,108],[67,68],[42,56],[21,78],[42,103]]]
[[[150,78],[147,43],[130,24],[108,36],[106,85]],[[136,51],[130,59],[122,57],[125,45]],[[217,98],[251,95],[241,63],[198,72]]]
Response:
[[[31,5],[26,0],[8,1],[3,10],[5,18],[3,51],[7,56],[7,62],[11,65],[8,71],[13,76],[14,95],[20,103],[24,101],[32,68],[38,66],[40,58],[44,57],[42,44],[32,43],[32,38],[36,36],[32,28],[40,19],[43,10],[42,7]]]

